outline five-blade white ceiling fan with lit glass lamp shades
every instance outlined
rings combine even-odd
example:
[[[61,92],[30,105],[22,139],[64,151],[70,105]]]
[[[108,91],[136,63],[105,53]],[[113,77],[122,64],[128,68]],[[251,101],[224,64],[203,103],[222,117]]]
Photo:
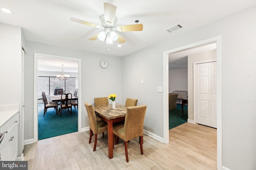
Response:
[[[100,16],[100,21],[103,27],[100,25],[90,23],[87,21],[79,20],[76,18],[70,18],[70,21],[76,22],[76,23],[82,23],[84,25],[89,25],[91,27],[96,28],[104,28],[104,31],[101,31],[97,33],[96,35],[90,37],[90,40],[96,40],[97,38],[100,41],[104,41],[106,39],[107,44],[112,44],[113,41],[118,41],[118,43],[124,43],[126,40],[121,37],[118,33],[116,33],[113,30],[119,31],[119,32],[125,32],[125,31],[142,31],[143,25],[140,24],[132,24],[132,25],[119,25],[116,26],[116,6],[104,2],[104,14]]]

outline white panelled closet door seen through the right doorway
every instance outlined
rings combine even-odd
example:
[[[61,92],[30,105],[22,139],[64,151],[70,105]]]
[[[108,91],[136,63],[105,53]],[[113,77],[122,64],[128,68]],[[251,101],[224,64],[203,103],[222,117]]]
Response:
[[[196,64],[194,79],[196,123],[217,128],[216,61]]]

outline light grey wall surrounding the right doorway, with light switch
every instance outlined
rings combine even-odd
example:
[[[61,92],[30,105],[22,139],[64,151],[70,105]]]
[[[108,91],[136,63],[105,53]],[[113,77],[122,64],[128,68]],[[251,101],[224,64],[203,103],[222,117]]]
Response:
[[[146,104],[144,129],[163,137],[163,51],[222,36],[222,163],[232,170],[256,169],[256,6],[122,60],[123,101],[131,96]],[[180,30],[182,31],[182,30]],[[144,78],[144,84],[140,79]]]

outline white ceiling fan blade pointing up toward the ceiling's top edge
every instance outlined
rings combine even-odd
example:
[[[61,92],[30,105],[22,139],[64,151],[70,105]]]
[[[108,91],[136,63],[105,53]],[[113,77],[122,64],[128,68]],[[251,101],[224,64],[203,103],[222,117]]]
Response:
[[[113,25],[115,20],[115,15],[116,15],[116,6],[104,2],[105,23],[109,25]]]

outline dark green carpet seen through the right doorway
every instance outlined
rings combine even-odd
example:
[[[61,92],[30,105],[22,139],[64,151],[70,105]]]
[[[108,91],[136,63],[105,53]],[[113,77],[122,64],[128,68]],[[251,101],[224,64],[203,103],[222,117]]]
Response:
[[[169,129],[186,123],[188,120],[188,106],[183,106],[184,117],[182,117],[181,105],[177,104],[177,109],[169,111]]]

